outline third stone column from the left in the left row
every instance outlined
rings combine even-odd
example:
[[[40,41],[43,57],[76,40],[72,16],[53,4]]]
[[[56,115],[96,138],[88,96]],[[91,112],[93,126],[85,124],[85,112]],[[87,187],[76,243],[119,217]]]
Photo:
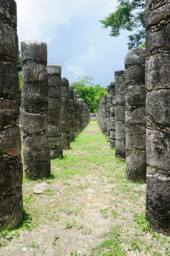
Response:
[[[49,76],[48,136],[50,158],[63,156],[61,137],[61,66],[47,65]]]

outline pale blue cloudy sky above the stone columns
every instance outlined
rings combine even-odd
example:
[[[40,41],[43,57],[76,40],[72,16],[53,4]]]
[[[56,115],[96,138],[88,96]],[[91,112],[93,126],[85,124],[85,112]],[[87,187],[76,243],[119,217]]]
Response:
[[[15,1],[19,47],[26,40],[46,42],[48,63],[61,65],[70,84],[89,76],[106,87],[114,71],[124,69],[127,31],[115,38],[98,22],[114,12],[116,0]]]

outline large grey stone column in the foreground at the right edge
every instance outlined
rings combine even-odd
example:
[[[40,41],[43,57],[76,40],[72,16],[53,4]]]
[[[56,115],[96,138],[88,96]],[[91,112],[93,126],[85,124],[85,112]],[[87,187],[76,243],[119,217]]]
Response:
[[[146,220],[170,234],[170,2],[146,0]]]

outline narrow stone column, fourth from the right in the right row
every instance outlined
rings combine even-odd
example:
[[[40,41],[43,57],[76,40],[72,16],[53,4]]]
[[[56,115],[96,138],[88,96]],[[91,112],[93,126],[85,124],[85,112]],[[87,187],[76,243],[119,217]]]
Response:
[[[110,84],[110,100],[111,100],[111,107],[110,107],[110,118],[111,118],[111,148],[115,147],[115,83],[111,82]]]

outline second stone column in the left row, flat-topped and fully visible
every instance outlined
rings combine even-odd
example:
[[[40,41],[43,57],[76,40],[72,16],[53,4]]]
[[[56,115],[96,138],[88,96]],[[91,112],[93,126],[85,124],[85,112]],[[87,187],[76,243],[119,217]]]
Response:
[[[29,179],[50,176],[50,148],[47,138],[49,88],[47,44],[36,41],[21,43],[22,145],[24,170]]]

